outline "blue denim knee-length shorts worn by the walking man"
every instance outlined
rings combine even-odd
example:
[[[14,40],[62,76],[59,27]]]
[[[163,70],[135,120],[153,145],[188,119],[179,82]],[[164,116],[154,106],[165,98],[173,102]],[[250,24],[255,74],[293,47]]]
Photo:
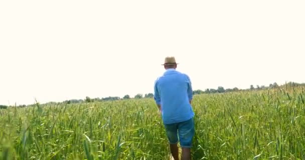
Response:
[[[171,144],[177,144],[180,140],[181,147],[192,147],[192,140],[195,133],[194,117],[178,123],[164,124],[164,126]]]

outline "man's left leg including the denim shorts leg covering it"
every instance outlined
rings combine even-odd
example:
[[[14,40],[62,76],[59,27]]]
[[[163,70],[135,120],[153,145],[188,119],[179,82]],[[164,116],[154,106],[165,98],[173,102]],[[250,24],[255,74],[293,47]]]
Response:
[[[164,126],[170,142],[171,153],[175,160],[179,160],[177,124],[164,124]]]

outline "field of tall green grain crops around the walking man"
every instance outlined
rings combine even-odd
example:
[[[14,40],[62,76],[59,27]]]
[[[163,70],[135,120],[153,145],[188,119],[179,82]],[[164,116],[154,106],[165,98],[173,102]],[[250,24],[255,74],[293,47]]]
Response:
[[[194,96],[192,159],[304,159],[302,89]],[[169,159],[153,99],[0,109],[1,159]]]

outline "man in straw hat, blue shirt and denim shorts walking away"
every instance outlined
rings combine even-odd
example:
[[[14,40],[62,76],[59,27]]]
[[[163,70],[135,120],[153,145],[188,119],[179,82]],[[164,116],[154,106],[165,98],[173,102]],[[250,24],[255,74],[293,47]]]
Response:
[[[177,71],[177,64],[174,56],[165,58],[162,65],[166,71],[155,81],[154,96],[162,114],[174,159],[179,159],[177,143],[180,140],[181,157],[183,160],[189,160],[195,132],[194,112],[191,105],[193,90],[190,77]]]

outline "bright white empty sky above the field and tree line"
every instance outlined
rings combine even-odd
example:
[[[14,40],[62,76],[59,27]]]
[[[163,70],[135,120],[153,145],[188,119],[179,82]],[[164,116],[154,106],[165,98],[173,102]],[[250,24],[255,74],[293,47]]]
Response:
[[[305,82],[304,0],[1,0],[0,104]]]

